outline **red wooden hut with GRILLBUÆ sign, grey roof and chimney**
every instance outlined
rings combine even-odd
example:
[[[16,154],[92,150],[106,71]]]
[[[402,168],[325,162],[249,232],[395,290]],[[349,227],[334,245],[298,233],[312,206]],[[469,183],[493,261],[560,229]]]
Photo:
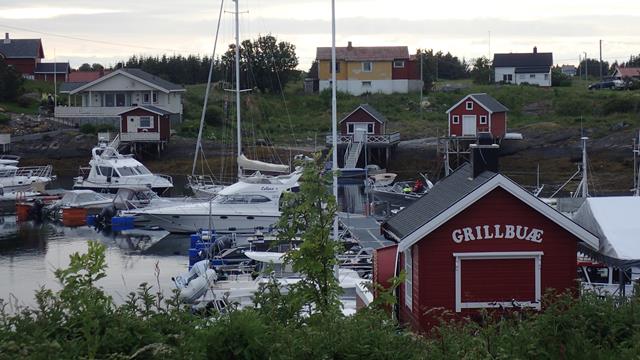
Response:
[[[396,275],[405,270],[397,313],[416,331],[437,324],[433,309],[540,309],[545,290],[576,289],[578,247],[598,248],[596,236],[483,163],[458,168],[382,225],[398,244],[378,251],[374,278],[385,280],[389,262]]]

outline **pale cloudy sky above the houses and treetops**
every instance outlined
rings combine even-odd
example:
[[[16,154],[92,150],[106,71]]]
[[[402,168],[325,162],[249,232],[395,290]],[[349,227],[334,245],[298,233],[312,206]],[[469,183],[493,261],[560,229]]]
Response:
[[[226,0],[216,53],[234,40],[235,3]],[[240,37],[272,34],[296,46],[307,70],[318,46],[331,46],[330,0],[240,0]],[[113,65],[131,55],[210,55],[220,1],[0,0],[0,31],[41,38],[46,61]],[[637,15],[634,15],[637,14]],[[640,54],[640,1],[336,0],[336,46],[400,46],[465,59],[493,53],[552,52],[577,64],[586,52],[626,61]],[[635,36],[634,36],[635,35]],[[2,35],[0,35],[2,36]]]

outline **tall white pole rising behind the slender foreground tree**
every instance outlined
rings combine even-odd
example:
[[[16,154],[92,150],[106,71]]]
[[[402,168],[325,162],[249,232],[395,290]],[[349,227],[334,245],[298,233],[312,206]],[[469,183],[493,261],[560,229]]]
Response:
[[[338,204],[338,110],[336,105],[336,1],[331,0],[331,137],[333,143],[333,197]],[[338,217],[333,219],[333,240],[338,240]]]

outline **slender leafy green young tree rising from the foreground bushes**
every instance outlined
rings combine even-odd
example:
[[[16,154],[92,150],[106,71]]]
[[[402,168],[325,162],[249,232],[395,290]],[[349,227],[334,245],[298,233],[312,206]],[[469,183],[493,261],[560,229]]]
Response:
[[[331,173],[323,174],[320,156],[304,164],[300,191],[284,197],[282,216],[277,224],[278,240],[302,244],[285,256],[302,280],[290,288],[294,303],[313,306],[317,313],[336,313],[340,309],[340,287],[334,275],[340,243],[331,238],[336,200],[328,192]]]

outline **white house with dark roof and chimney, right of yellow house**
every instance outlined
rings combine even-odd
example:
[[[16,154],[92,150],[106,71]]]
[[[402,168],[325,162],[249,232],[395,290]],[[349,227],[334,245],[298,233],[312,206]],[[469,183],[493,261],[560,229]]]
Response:
[[[533,53],[493,55],[495,82],[551,86],[552,66],[553,53],[539,53],[536,47]]]

